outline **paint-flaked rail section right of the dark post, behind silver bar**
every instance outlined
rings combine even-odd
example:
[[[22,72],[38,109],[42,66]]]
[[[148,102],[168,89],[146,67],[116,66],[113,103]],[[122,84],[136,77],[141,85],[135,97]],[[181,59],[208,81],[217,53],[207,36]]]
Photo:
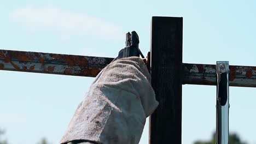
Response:
[[[183,84],[216,85],[216,65],[183,63]],[[229,86],[256,87],[256,67],[229,65]]]

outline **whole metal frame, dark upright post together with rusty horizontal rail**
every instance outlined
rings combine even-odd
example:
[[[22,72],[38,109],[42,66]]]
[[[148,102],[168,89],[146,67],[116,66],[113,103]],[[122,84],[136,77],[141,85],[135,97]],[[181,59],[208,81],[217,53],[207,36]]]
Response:
[[[182,37],[182,17],[152,17],[149,70],[159,106],[150,116],[150,144],[182,142],[182,85],[216,85],[215,65],[182,63]],[[113,59],[0,50],[0,70],[95,77]],[[256,67],[229,69],[229,86],[256,87]]]

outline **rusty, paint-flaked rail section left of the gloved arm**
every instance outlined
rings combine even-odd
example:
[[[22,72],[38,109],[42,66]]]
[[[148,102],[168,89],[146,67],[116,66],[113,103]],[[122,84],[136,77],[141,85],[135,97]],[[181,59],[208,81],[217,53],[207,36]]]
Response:
[[[113,58],[0,50],[0,70],[96,77]]]

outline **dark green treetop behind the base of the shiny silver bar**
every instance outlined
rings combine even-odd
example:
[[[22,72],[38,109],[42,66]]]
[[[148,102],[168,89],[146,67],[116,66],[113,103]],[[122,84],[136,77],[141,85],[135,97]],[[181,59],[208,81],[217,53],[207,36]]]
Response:
[[[216,143],[216,134],[212,135],[212,139],[210,141],[196,141],[194,144],[215,144]],[[229,143],[232,144],[246,144],[246,142],[242,142],[240,137],[237,134],[229,134]]]

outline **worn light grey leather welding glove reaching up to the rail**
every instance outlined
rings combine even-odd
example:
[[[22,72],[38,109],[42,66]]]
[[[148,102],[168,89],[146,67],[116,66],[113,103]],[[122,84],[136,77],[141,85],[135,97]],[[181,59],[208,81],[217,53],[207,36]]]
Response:
[[[139,57],[117,59],[97,75],[60,143],[88,140],[137,144],[146,117],[157,106],[143,60]]]

